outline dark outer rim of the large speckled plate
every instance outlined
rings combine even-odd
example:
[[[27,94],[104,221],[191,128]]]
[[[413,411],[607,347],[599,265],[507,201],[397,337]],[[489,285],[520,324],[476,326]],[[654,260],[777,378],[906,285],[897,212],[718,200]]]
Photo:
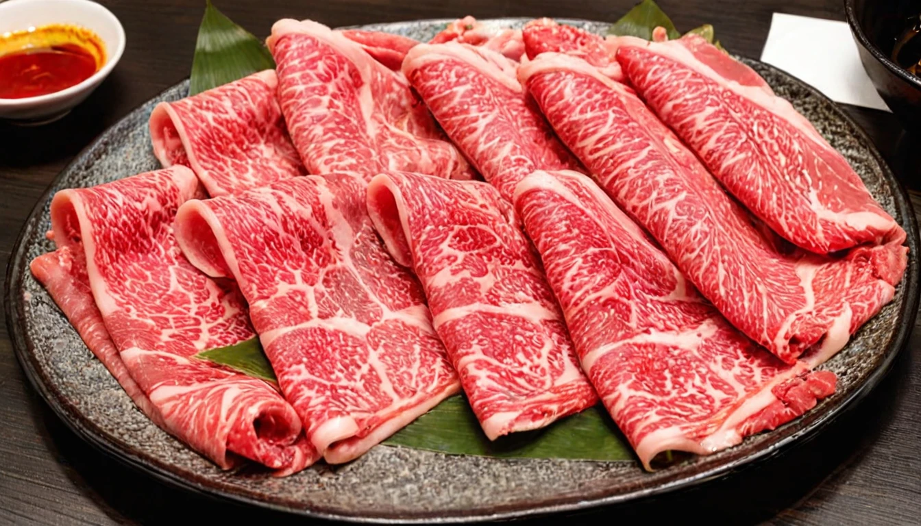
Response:
[[[520,19],[528,18],[502,18],[502,20],[509,21]],[[379,29],[386,26],[404,26],[413,23],[443,24],[451,20],[452,18],[412,20],[402,22],[398,21],[382,24],[371,24],[367,26],[350,26],[350,28],[371,27],[373,29]],[[562,22],[572,21],[577,23],[601,23],[581,19],[559,18],[559,20]],[[778,68],[773,69],[781,71]],[[812,96],[830,102],[829,99],[827,99],[815,88],[812,88],[809,85],[803,83],[795,76],[791,76],[786,72],[783,73],[789,78],[790,82],[797,84],[799,88],[804,88],[805,90],[809,91]],[[170,90],[176,89],[187,82],[188,80],[184,80],[180,84],[164,90],[160,95],[157,96],[157,98],[153,100],[161,98],[163,94],[169,92]],[[41,398],[45,401],[45,403],[48,403],[48,405],[52,408],[52,411],[58,417],[60,417],[61,420],[64,421],[64,424],[73,430],[77,436],[86,440],[99,451],[110,455],[116,460],[142,473],[147,473],[164,483],[191,491],[196,494],[200,494],[204,497],[216,498],[218,500],[231,500],[241,504],[249,504],[256,507],[300,514],[318,519],[390,524],[408,522],[472,522],[483,520],[517,519],[565,511],[585,510],[605,505],[623,503],[641,497],[659,496],[664,493],[672,492],[692,485],[699,485],[708,480],[726,476],[729,473],[738,472],[742,468],[749,468],[755,463],[764,462],[765,460],[770,459],[781,450],[786,450],[788,446],[792,446],[793,444],[801,444],[807,439],[814,437],[822,428],[827,427],[829,424],[834,422],[834,420],[839,415],[852,408],[858,400],[864,398],[880,382],[880,380],[885,377],[885,375],[892,368],[893,360],[898,356],[898,353],[903,348],[905,342],[908,339],[908,335],[911,333],[915,324],[915,316],[917,313],[916,311],[919,296],[919,266],[918,258],[916,257],[918,254],[919,236],[915,213],[911,205],[911,201],[909,200],[907,193],[905,193],[904,187],[895,179],[892,174],[892,169],[889,168],[888,164],[882,158],[877,148],[873,145],[872,140],[869,138],[866,132],[856,122],[854,122],[854,120],[851,119],[845,113],[845,111],[841,111],[840,108],[835,108],[838,118],[840,118],[844,123],[848,124],[853,130],[855,130],[859,142],[868,147],[871,156],[880,166],[882,179],[886,182],[892,191],[892,200],[895,208],[899,211],[900,215],[905,218],[904,227],[908,234],[906,243],[909,247],[909,263],[904,276],[903,286],[905,289],[903,305],[902,309],[898,312],[898,317],[902,323],[898,326],[897,330],[889,339],[889,345],[886,348],[886,354],[882,362],[869,374],[869,377],[864,380],[863,383],[849,392],[847,396],[839,401],[836,405],[826,408],[820,414],[807,415],[800,418],[800,420],[810,419],[811,421],[808,424],[799,427],[799,429],[788,434],[787,437],[780,438],[761,450],[755,450],[752,453],[749,453],[740,458],[707,467],[687,476],[679,476],[676,479],[670,480],[663,484],[655,485],[652,487],[641,487],[634,491],[616,495],[608,495],[603,491],[595,493],[587,491],[580,496],[561,497],[554,499],[554,501],[548,500],[542,505],[538,506],[508,506],[504,508],[490,508],[488,510],[474,509],[469,513],[455,512],[453,515],[424,511],[413,516],[379,515],[371,517],[360,513],[350,514],[343,511],[330,511],[329,509],[324,509],[321,503],[301,502],[299,503],[299,507],[296,508],[276,502],[268,502],[253,498],[249,495],[246,495],[244,492],[240,492],[237,490],[237,488],[229,485],[221,485],[220,483],[216,483],[213,480],[206,480],[204,477],[197,477],[194,475],[189,476],[187,473],[177,473],[171,469],[169,463],[160,462],[157,458],[133,450],[119,438],[112,437],[110,434],[103,431],[95,423],[87,419],[85,415],[82,415],[74,404],[65,400],[61,393],[55,388],[52,381],[50,381],[50,379],[41,371],[41,369],[38,367],[34,353],[30,350],[34,345],[30,341],[28,335],[22,331],[19,326],[18,320],[21,320],[25,316],[25,305],[21,300],[21,294],[17,294],[18,291],[22,290],[23,286],[21,279],[21,276],[25,275],[23,272],[23,265],[28,264],[28,262],[26,262],[25,258],[23,257],[25,241],[29,236],[29,232],[35,228],[35,224],[40,220],[44,205],[52,196],[52,189],[56,187],[58,182],[61,181],[72,169],[79,165],[87,164],[87,162],[91,162],[94,158],[94,155],[101,155],[99,150],[105,149],[108,140],[113,136],[118,136],[120,133],[125,133],[130,130],[134,125],[136,115],[145,111],[149,111],[151,105],[152,102],[148,100],[138,108],[134,109],[134,111],[131,111],[124,118],[122,118],[121,121],[115,123],[109,129],[100,134],[97,139],[95,139],[89,146],[84,148],[76,156],[76,158],[64,170],[62,170],[62,172],[58,174],[57,177],[55,177],[55,179],[49,185],[48,189],[42,193],[41,198],[32,209],[31,213],[29,214],[29,218],[25,222],[23,228],[20,230],[16,243],[14,244],[13,251],[11,251],[9,261],[6,265],[6,290],[4,291],[6,326],[10,335],[10,339],[13,342],[14,351],[16,353],[19,364],[26,373],[26,376],[29,379],[29,383],[31,383],[33,388],[35,388],[35,390],[40,393]],[[780,431],[780,429],[777,431]]]

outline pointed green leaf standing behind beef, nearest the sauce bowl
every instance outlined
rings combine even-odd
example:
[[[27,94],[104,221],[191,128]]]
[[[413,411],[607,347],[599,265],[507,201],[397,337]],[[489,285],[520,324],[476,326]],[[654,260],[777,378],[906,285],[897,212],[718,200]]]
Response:
[[[207,0],[192,59],[190,95],[275,67],[262,41]]]

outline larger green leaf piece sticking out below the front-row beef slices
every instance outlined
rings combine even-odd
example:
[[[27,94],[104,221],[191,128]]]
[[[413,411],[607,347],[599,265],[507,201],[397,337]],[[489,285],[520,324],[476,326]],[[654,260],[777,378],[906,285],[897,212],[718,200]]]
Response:
[[[490,441],[460,395],[439,403],[383,443],[452,455],[604,462],[634,459],[630,444],[600,404],[548,427]]]

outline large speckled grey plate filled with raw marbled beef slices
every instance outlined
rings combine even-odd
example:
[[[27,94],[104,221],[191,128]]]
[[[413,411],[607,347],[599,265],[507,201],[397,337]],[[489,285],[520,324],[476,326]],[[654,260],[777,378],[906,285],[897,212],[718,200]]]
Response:
[[[280,20],[275,70],[148,101],[22,230],[29,380],[142,471],[343,520],[624,502],[821,429],[913,326],[904,190],[772,66],[559,22]],[[273,375],[212,359],[247,345]],[[635,458],[381,444],[460,392],[490,440],[603,404]]]

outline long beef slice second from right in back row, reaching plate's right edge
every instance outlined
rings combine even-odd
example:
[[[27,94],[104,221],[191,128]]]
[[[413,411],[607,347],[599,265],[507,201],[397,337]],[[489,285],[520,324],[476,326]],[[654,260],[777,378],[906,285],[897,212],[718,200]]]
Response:
[[[892,300],[903,240],[830,258],[785,251],[633,90],[542,53],[519,72],[563,142],[717,309],[787,363],[820,363]]]

